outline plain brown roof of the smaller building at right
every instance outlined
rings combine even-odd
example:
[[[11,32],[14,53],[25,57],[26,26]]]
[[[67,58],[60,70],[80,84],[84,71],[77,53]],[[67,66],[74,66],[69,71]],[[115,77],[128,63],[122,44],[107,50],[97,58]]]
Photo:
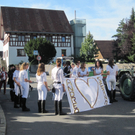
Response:
[[[113,40],[96,40],[97,47],[100,49],[100,53],[102,54],[104,59],[113,58],[113,48],[114,41]]]

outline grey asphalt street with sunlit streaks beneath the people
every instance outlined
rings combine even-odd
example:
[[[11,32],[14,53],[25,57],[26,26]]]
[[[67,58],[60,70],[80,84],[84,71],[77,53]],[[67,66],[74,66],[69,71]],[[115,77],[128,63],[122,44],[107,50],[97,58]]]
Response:
[[[32,77],[35,81],[35,77]],[[50,76],[47,77],[49,85]],[[118,103],[97,108],[91,111],[70,114],[67,97],[64,96],[63,110],[66,116],[54,115],[52,94],[48,92],[47,114],[38,113],[36,83],[27,100],[30,112],[14,109],[10,101],[9,89],[6,95],[0,93],[0,104],[5,112],[7,135],[134,135],[135,102],[124,101],[117,92]]]

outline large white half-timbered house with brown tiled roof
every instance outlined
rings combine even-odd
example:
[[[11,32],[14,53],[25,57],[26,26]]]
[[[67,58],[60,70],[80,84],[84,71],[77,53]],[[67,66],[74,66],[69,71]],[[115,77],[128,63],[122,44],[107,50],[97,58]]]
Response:
[[[25,44],[30,39],[46,38],[56,47],[56,57],[74,54],[73,30],[64,11],[32,8],[0,8],[0,40],[7,66],[27,62]]]

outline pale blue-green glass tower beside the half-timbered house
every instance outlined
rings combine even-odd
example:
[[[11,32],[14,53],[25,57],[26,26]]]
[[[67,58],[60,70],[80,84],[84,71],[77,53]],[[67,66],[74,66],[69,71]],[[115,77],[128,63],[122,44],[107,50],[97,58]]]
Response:
[[[74,56],[80,56],[81,44],[86,37],[86,20],[74,19],[70,21],[72,30],[74,31]]]

